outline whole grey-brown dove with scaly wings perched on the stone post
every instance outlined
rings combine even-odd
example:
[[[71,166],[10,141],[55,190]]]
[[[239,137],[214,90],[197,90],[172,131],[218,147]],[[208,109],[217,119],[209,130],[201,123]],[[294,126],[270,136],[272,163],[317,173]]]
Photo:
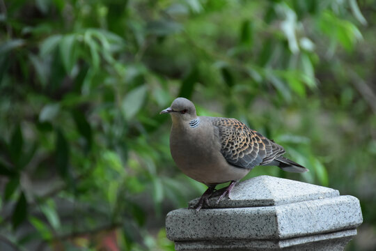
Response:
[[[197,116],[194,103],[176,98],[159,114],[171,114],[171,156],[178,168],[190,178],[207,185],[194,209],[209,206],[209,198],[221,183],[217,204],[253,167],[275,165],[286,172],[303,173],[308,169],[283,157],[285,149],[237,119]]]

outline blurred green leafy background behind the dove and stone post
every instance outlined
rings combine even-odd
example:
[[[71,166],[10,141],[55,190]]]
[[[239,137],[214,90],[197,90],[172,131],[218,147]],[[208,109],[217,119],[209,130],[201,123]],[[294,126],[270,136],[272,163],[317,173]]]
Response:
[[[173,250],[205,185],[169,152],[183,96],[338,189],[376,250],[376,2],[0,0],[0,250]]]

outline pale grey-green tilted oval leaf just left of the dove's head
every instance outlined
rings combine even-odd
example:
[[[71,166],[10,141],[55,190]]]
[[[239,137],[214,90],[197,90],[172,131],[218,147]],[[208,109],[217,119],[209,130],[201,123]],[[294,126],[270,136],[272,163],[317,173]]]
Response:
[[[123,98],[121,102],[121,109],[126,120],[132,119],[134,115],[139,112],[146,98],[147,86],[142,85],[133,89]]]

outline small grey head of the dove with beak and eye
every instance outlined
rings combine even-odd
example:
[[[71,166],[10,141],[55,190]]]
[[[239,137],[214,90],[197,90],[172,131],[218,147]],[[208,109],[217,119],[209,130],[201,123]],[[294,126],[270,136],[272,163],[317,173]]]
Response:
[[[196,119],[196,107],[194,103],[187,98],[176,98],[173,100],[169,108],[164,109],[159,114],[169,113],[173,119],[178,119],[180,121],[191,121]]]

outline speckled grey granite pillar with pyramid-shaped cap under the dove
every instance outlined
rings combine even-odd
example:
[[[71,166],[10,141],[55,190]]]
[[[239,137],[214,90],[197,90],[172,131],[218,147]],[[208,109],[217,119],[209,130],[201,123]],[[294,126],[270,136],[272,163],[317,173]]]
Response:
[[[363,221],[356,197],[272,176],[237,184],[218,205],[209,201],[198,213],[167,214],[175,250],[343,250]]]

